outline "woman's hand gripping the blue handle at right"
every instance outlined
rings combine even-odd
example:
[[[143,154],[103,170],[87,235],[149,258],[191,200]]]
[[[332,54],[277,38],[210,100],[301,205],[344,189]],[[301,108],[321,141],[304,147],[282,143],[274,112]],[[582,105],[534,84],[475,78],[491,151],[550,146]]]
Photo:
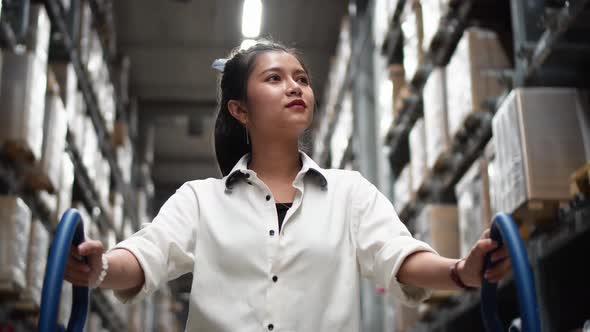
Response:
[[[482,276],[485,256],[492,252],[492,263],[496,263],[492,268],[485,271]],[[471,248],[471,251],[463,261],[457,266],[457,273],[464,284],[470,287],[480,287],[483,278],[489,282],[497,283],[506,277],[512,270],[510,257],[506,246],[498,249],[498,243],[490,239],[490,230],[487,229],[481,235],[481,238]]]

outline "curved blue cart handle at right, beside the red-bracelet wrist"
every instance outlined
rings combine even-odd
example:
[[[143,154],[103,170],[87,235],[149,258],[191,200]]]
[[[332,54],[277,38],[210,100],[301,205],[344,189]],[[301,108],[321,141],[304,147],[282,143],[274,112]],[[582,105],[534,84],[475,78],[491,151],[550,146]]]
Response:
[[[490,238],[498,244],[506,245],[512,261],[514,283],[518,295],[518,305],[522,319],[523,332],[539,332],[539,307],[535,295],[533,272],[529,264],[527,252],[518,232],[516,224],[508,214],[498,213],[492,221]],[[485,257],[484,269],[493,264],[491,253]],[[481,288],[481,315],[488,332],[503,331],[502,322],[498,316],[497,284],[484,279]]]

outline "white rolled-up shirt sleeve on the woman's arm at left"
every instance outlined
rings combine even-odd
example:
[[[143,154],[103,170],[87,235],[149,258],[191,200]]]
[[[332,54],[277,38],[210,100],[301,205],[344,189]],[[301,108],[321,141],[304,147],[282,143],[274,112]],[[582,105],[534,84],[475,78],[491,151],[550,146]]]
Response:
[[[111,249],[130,251],[145,277],[139,292],[115,291],[117,299],[123,303],[138,302],[163,283],[192,272],[198,216],[195,192],[185,183],[164,203],[151,223]]]

